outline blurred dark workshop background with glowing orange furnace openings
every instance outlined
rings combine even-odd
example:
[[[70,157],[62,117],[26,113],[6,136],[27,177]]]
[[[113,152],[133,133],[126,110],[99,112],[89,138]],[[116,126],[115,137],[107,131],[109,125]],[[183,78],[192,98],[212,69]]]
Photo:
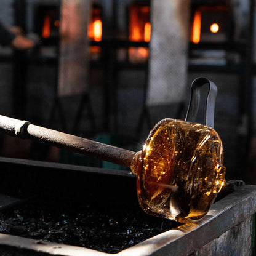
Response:
[[[36,46],[1,46],[1,114],[136,151],[162,118],[185,119],[204,76],[226,175],[256,183],[255,17],[250,0],[2,0],[1,22]],[[122,168],[7,135],[1,156]]]

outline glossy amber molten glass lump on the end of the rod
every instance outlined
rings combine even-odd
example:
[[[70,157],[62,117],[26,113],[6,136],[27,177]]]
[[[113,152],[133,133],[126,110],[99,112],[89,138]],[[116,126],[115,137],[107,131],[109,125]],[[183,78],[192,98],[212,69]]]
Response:
[[[140,206],[183,223],[202,218],[225,183],[222,164],[222,142],[214,129],[163,119],[132,161]]]

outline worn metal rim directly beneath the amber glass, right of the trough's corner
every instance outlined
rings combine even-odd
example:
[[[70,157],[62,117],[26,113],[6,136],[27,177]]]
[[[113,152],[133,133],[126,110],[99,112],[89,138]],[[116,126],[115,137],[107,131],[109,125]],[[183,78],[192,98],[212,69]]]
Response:
[[[250,215],[255,214],[255,201],[256,185],[242,186],[213,204],[208,214],[198,222],[184,224],[158,234],[119,252],[118,255],[160,256],[170,255],[170,252],[172,255],[190,255],[195,249],[201,248]]]

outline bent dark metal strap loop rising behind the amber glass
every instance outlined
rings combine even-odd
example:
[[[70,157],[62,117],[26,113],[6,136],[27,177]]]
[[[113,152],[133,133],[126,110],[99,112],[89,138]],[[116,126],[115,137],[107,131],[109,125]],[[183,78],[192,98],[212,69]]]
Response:
[[[191,98],[188,105],[185,121],[195,122],[198,114],[200,102],[200,89],[204,84],[208,84],[209,90],[206,98],[206,115],[204,122],[206,126],[214,128],[214,108],[217,95],[217,86],[207,78],[196,78],[191,84]]]

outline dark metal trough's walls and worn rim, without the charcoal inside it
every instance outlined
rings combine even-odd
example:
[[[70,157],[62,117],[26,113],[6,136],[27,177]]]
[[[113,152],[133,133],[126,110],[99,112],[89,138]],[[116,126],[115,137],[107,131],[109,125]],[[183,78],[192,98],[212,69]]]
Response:
[[[123,199],[125,204],[129,203],[129,200],[137,200],[135,177],[127,171],[118,172],[118,170],[21,159],[1,158],[0,161],[1,190],[6,188],[13,190],[18,186],[19,192],[51,194],[59,191],[57,194],[62,197],[70,195],[70,191],[73,191],[70,196],[82,199],[90,195],[88,191],[95,188],[95,182],[97,182],[98,189],[94,189],[94,200],[102,199],[102,191],[104,191],[105,200]],[[81,186],[82,183],[84,186]],[[69,185],[68,188],[67,185]],[[66,194],[62,190],[65,187]],[[42,188],[45,190],[41,192]],[[117,190],[118,193],[116,193]],[[202,220],[153,236],[122,250],[118,255],[252,255],[255,239],[253,232],[255,199],[256,186],[242,186],[215,202]],[[3,248],[17,252],[22,249],[33,255],[110,255],[77,246],[0,234],[0,251]]]

